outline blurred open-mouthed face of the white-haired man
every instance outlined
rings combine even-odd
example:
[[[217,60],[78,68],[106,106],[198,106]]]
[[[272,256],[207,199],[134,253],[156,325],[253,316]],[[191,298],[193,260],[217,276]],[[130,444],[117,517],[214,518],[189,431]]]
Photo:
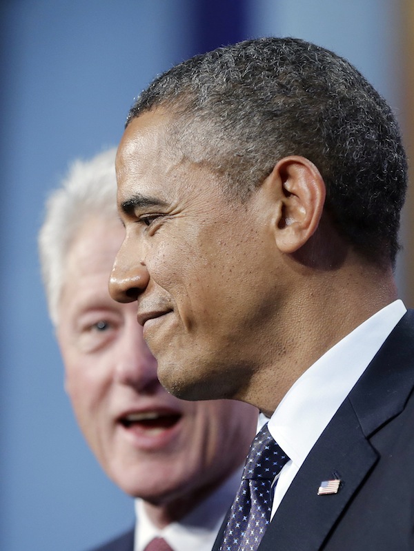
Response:
[[[244,457],[256,410],[235,401],[184,402],[161,387],[135,304],[108,294],[124,237],[119,221],[91,218],[66,261],[58,339],[66,389],[103,469],[156,505],[218,485]]]

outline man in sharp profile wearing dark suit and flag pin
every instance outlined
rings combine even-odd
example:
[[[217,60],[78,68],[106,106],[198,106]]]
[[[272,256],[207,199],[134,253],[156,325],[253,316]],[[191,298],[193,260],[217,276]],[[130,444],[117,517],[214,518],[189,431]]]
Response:
[[[137,301],[161,383],[271,417],[215,549],[412,549],[406,157],[384,99],[311,43],[220,48],[137,99],[117,178],[110,292]]]

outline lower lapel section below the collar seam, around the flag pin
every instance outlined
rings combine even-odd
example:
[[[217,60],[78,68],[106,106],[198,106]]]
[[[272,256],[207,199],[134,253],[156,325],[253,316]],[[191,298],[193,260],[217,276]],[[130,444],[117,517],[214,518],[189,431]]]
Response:
[[[344,432],[348,433],[346,447]],[[355,412],[346,401],[335,415],[335,422],[328,425],[299,469],[259,550],[319,549],[376,461],[377,454],[366,441]],[[320,483],[331,479],[341,480],[337,494],[317,495]]]

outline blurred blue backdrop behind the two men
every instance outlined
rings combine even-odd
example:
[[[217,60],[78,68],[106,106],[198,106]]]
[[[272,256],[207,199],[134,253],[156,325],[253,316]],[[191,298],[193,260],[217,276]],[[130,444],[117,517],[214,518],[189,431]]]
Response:
[[[63,391],[39,277],[48,190],[74,157],[119,141],[162,70],[268,34],[348,57],[398,108],[398,3],[388,0],[16,0],[1,28],[0,549],[81,551],[128,528]],[[404,259],[398,279],[404,296]]]

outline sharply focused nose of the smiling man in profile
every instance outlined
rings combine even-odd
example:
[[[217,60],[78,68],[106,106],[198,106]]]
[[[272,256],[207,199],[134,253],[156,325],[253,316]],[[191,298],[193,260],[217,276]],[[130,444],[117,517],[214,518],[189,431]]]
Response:
[[[149,274],[143,261],[128,254],[126,241],[122,244],[109,279],[109,294],[117,302],[136,301],[146,289]]]

